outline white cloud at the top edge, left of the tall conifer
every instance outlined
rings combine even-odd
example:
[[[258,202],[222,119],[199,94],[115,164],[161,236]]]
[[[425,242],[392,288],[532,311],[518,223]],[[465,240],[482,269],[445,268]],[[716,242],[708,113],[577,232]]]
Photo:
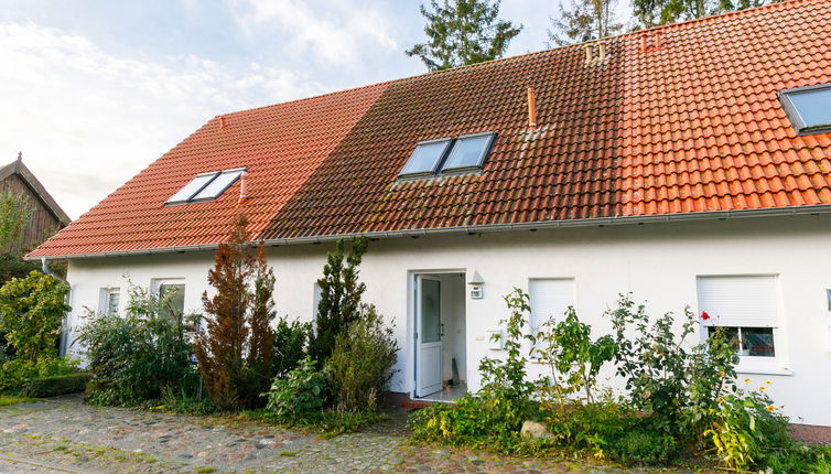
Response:
[[[300,0],[230,0],[244,32],[251,36],[279,28],[288,54],[313,54],[322,63],[355,65],[364,51],[398,50],[389,19],[353,1],[325,7]]]

